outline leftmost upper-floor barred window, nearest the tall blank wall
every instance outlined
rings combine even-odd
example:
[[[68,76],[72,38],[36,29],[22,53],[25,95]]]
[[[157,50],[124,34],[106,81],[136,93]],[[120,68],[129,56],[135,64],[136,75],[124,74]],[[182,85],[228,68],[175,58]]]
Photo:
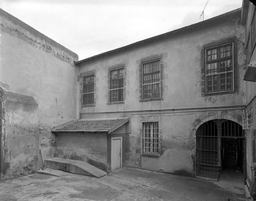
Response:
[[[94,104],[95,74],[83,76],[83,105]]]

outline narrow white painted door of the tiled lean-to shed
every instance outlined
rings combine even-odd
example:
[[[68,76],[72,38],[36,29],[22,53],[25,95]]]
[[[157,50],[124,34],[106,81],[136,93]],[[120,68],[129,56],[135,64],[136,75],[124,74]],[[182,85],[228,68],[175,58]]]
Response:
[[[122,167],[122,138],[111,138],[111,170]]]

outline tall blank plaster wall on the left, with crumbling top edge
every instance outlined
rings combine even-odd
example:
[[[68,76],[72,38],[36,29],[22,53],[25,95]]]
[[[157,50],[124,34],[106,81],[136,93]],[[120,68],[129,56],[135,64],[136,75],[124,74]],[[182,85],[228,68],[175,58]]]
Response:
[[[78,118],[77,54],[0,9],[0,87],[38,103],[39,148],[51,155],[53,126]]]

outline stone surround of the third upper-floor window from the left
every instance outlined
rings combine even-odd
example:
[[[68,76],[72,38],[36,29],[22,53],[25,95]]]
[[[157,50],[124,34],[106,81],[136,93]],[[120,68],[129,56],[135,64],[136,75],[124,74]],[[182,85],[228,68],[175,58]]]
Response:
[[[159,98],[151,98],[151,99],[143,99],[143,87],[142,87],[142,65],[143,63],[160,60],[160,97]],[[151,55],[149,57],[142,58],[139,61],[139,102],[146,102],[146,101],[161,101],[163,100],[163,54],[159,55]]]

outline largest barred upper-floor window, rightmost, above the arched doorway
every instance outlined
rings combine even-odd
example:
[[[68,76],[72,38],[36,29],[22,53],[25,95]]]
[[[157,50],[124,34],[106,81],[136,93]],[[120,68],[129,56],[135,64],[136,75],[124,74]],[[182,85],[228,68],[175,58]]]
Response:
[[[206,93],[234,90],[233,42],[206,48]]]

